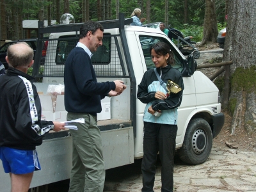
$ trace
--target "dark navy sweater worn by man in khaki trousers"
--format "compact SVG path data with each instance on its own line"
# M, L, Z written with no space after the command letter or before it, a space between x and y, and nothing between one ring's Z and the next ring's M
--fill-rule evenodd
M100 100L115 83L97 83L90 56L81 47L72 49L65 63L65 109L73 113L90 113L96 116L101 112Z

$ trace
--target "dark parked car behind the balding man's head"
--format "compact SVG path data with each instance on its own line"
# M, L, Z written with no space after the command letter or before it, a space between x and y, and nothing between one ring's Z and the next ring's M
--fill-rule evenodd
M16 42L26 42L33 49L33 51L34 51L33 60L35 59L36 45L37 45L37 39L36 38L33 38L33 39L23 39L23 40L15 40L15 41L6 42L5 44L3 44L0 47L0 61L3 63L5 69L9 68L8 63L5 60L7 49L8 49L8 47L10 45L12 45L12 44L14 44ZM42 51L43 56L42 56L42 60L40 61L40 65L44 65L46 49L47 49L47 47L45 48L45 45L44 45L44 48L43 48L43 51Z

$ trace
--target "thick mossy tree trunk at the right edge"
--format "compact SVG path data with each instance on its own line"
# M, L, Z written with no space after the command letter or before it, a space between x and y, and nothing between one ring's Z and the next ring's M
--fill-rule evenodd
M233 65L230 66L232 81L228 100L228 108L233 114L230 134L235 134L237 128L256 132L255 7L256 1L228 0L227 36L223 60L233 61Z

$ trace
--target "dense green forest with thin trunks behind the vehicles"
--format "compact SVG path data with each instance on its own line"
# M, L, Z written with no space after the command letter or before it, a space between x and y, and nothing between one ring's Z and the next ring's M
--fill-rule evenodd
M209 0L207 0L209 1ZM76 22L86 20L118 19L118 13L131 17L134 8L141 9L143 24L165 22L166 26L179 29L185 36L193 36L196 42L202 41L205 18L205 0L0 0L1 25L0 39L18 40L27 38L22 28L22 20L56 20L64 13L74 16ZM225 28L227 0L214 0L218 30ZM36 31L31 37L36 38ZM217 36L214 36L216 39Z

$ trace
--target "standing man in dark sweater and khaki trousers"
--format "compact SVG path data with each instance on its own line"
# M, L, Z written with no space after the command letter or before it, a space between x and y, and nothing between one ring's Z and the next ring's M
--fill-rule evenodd
M80 28L79 42L68 54L65 63L67 120L84 118L84 124L76 124L78 130L70 130L73 138L73 167L69 192L103 191L105 169L97 113L101 111L101 99L120 95L126 88L120 80L97 82L91 57L92 52L102 45L103 31L98 22L85 22Z

